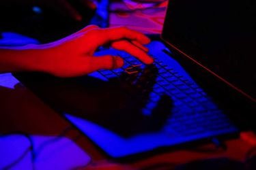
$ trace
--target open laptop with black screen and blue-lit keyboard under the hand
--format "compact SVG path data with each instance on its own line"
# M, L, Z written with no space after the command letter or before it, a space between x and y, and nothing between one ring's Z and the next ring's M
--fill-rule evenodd
M153 65L101 49L96 57L122 56L124 67L79 78L14 75L111 158L237 135L253 127L256 76L254 10L235 3L169 0L161 37L147 45ZM247 22L232 15L238 8Z

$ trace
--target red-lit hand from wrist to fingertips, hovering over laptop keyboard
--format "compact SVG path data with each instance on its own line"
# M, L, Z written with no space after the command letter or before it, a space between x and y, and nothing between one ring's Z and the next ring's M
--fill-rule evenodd
M148 37L125 27L100 29L91 25L64 39L39 46L38 67L40 71L58 77L73 77L98 69L122 67L124 61L119 56L94 56L94 52L104 45L124 50L143 63L151 64L153 59L147 55L148 50L143 46L148 43Z

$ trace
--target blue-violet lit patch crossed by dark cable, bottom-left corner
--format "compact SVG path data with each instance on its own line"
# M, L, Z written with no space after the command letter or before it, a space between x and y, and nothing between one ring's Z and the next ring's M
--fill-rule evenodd
M66 137L0 136L0 169L76 169L90 157Z

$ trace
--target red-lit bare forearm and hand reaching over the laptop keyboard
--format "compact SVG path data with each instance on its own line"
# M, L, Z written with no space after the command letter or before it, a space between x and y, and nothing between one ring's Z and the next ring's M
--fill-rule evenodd
M98 47L106 44L151 64L153 59L143 46L149 42L145 35L124 27L100 29L89 26L51 44L0 49L0 72L42 71L72 77L98 69L122 67L124 61L119 56L94 57Z

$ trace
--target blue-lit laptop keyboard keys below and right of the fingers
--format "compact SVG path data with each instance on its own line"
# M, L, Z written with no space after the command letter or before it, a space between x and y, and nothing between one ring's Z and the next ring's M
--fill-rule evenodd
M117 55L124 58L124 67L100 70L99 73L109 81L119 80L130 86L139 86L142 95L143 92L150 92L146 105L141 109L145 116L152 114L163 95L169 96L173 106L163 131L171 137L205 133L214 136L237 131L221 109L193 80L188 80L157 56L154 56L154 64L147 66L129 54Z

